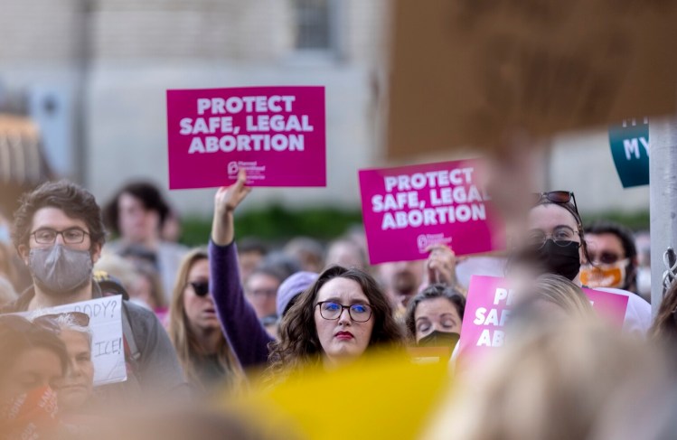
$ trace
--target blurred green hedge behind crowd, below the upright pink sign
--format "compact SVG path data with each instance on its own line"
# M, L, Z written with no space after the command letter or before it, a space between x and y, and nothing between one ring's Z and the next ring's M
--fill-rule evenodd
M307 208L288 210L280 205L236 214L235 236L257 237L269 242L282 242L297 236L331 240L341 236L355 224L362 223L358 210ZM211 218L183 219L181 242L188 246L202 245L209 239Z

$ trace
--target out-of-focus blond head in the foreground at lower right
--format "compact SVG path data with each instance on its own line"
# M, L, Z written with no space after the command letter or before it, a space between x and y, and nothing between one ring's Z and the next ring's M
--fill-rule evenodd
M664 383L662 365L657 351L606 325L578 319L544 324L468 370L423 438L592 438L606 407L633 398L627 390L645 397L646 389Z

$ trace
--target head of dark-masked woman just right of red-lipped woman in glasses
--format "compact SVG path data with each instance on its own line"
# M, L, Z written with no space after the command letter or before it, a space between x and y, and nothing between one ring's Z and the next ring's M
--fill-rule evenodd
M465 297L460 292L445 285L428 286L409 301L405 316L409 338L418 346L453 350L464 313Z

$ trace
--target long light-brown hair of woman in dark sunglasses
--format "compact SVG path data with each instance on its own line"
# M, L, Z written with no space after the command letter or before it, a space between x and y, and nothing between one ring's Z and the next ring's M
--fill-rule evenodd
M186 379L193 385L199 387L204 386L202 378L199 376L197 370L197 361L204 357L204 352L194 334L191 326L188 323L188 316L185 314L185 307L183 305L183 295L186 284L188 283L188 273L191 268L200 260L208 259L208 254L204 248L194 248L181 262L176 281L174 282L174 290L172 293L172 301L169 309L169 338L174 344L174 349L178 355L179 361L183 367ZM217 356L221 368L230 375L234 384L238 384L244 379L244 373L240 367L240 363L230 349L228 341L219 331L221 335L219 344L217 346Z

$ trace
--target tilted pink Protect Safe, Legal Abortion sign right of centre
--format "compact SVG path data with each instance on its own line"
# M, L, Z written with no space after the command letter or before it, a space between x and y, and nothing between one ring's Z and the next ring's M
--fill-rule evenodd
M360 171L371 264L428 257L443 243L456 255L505 248L503 227L478 187L478 160Z

